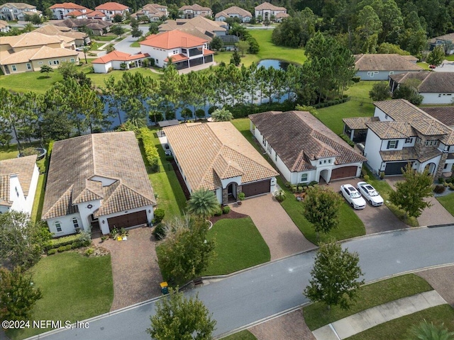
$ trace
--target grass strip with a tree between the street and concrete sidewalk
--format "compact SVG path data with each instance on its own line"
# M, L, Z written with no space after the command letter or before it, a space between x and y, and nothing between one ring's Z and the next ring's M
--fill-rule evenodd
M304 321L307 327L314 331L331 322L356 314L362 310L367 310L367 308L428 290L433 290L431 285L415 274L396 276L360 287L358 289L358 299L349 310L341 310L338 306L331 306L331 310L328 311L325 304L321 302L312 303L303 308ZM393 336L389 339L403 338Z

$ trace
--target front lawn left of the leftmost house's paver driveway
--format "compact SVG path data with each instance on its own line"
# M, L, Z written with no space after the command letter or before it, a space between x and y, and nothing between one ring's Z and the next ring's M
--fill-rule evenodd
M109 312L114 300L111 256L87 257L74 251L43 257L31 269L43 293L33 308L32 320L88 319ZM8 331L11 339L24 339L50 329Z

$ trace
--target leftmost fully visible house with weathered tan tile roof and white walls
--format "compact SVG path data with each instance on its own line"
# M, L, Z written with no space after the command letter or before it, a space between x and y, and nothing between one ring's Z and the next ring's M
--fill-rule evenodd
M155 195L134 132L106 132L55 142L42 219L55 237L78 229L146 225Z

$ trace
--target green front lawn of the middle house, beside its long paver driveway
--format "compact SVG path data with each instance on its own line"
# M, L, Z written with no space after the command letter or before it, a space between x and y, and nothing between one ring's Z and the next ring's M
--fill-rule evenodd
M233 273L270 261L270 249L250 217L219 220L207 238L216 240L216 258L204 276Z

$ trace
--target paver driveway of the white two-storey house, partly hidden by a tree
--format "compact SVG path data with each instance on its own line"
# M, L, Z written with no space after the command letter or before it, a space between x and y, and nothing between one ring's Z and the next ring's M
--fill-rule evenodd
M386 181L394 190L396 190L396 183L404 181L404 177L392 176L388 177ZM432 206L424 209L421 216L418 217L418 223L421 227L426 225L446 225L454 223L454 216L451 215L436 198L429 197L425 198L425 200L426 202L431 203Z

